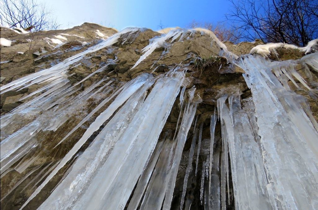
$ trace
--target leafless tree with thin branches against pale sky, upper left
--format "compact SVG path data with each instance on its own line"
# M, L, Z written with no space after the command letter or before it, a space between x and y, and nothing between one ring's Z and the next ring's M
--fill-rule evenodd
M37 32L59 27L44 3L36 0L0 0L1 25Z

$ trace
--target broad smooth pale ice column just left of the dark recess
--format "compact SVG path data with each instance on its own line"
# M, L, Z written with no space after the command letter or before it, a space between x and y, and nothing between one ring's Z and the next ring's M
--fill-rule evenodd
M60 209L58 206L69 206L72 203L75 204L70 206L73 209L102 209L105 208L105 205L110 209L124 208L149 155L156 145L161 129L179 93L183 78L184 73L178 72L176 76L164 77L156 82L131 123L114 144L106 162L91 177L89 185L78 200L75 203L72 201L65 203L67 198L59 198L61 203L55 204L55 208ZM154 103L158 106L152 106ZM135 125L140 126L136 127ZM156 128L153 125L156 125ZM75 167L77 167L77 163L74 164L73 168ZM130 173L130 176L127 177L127 173ZM100 182L101 179L104 181ZM126 182L123 183L123 179ZM119 185L121 185L120 189L118 189ZM59 195L58 188L54 192L55 196ZM56 197L52 195L51 199L55 200ZM50 206L52 202L45 202L41 208L47 209L46 205Z

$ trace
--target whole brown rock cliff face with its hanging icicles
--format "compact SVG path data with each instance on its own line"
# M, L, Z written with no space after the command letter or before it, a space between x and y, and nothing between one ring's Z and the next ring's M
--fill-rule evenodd
M2 209L318 208L318 53L163 32L1 28Z

